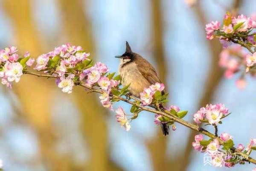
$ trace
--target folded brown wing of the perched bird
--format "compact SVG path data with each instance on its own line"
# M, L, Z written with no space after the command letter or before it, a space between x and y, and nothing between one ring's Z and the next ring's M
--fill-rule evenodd
M159 77L157 76L157 72L154 69L154 67L151 64L149 64L149 62L144 58L141 58L140 60L141 61L140 64L138 65L138 69L140 73L144 76L144 78L146 78L150 84L155 84L157 82L162 83Z

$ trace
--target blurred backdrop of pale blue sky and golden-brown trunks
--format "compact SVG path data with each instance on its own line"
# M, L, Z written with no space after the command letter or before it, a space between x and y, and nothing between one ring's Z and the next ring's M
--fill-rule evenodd
M204 27L228 10L250 16L253 0L0 0L0 49L17 46L36 58L70 42L116 72L113 58L128 41L154 67L170 93L168 105L189 110L223 102L232 112L220 132L247 145L256 138L255 81L236 88L239 77L225 79L218 67L222 47L208 41ZM253 11L254 10L254 11ZM237 78L236 78L237 77ZM129 111L129 105L116 103ZM68 95L51 79L22 76L13 89L0 86L0 159L5 171L250 171L204 166L192 148L196 132L176 125L168 137L141 113L126 132L98 95L75 87ZM208 126L209 127L209 126ZM212 130L212 128L207 128ZM256 157L255 154L252 155Z

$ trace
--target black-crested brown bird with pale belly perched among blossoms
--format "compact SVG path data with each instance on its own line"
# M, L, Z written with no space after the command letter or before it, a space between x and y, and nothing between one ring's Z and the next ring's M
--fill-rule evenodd
M118 74L121 76L121 84L122 86L130 84L128 90L131 95L140 98L140 93L143 92L144 88L157 82L162 83L154 67L141 55L132 52L127 41L125 53L115 56L115 58L120 58ZM163 94L164 92L162 92ZM163 135L167 136L169 125L161 123L161 128Z

